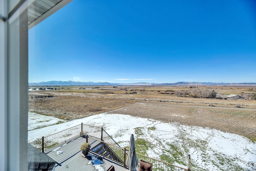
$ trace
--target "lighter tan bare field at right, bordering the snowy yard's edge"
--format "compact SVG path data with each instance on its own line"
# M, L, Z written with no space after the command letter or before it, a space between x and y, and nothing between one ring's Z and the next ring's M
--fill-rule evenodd
M218 129L223 132L236 133L256 140L256 110L234 109L226 107L199 107L170 105L159 103L135 103L108 113L118 113Z

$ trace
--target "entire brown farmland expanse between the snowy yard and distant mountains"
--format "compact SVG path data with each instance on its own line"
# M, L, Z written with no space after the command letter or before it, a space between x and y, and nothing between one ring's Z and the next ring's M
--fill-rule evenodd
M120 114L164 122L209 127L236 133L256 141L256 100L176 97L166 91L190 89L182 86L58 88L56 90L30 91L29 110L66 120L106 111L111 111L110 113L118 111ZM222 94L243 95L256 92L255 87L204 86L198 88L211 88ZM40 94L54 97L35 99L35 97L42 96ZM112 111L114 109L117 110Z

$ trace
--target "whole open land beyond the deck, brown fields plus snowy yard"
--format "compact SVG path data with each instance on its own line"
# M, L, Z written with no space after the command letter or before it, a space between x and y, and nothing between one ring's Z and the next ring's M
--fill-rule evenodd
M213 89L224 95L244 95L256 91L253 87L198 88ZM177 97L173 93L189 89L178 86L121 86L30 90L29 118L41 115L56 120L50 123L52 119L48 119L48 125L42 125L42 120L40 124L30 119L29 137L34 139L32 132L44 127L77 123L79 118L94 117L87 123L103 126L122 146L127 146L128 141L123 134L132 129L138 137L138 151L151 157L157 156L184 166L186 153L192 153L192 165L194 169L197 168L195 170L255 170L256 100ZM102 113L105 113L104 119ZM124 125L126 118L133 120L136 125L118 127L116 129L122 131L114 131L114 125ZM149 137L152 141L147 140ZM157 146L157 142L162 144L161 147ZM152 144L152 148L148 143ZM160 152L155 151L155 148L159 148Z

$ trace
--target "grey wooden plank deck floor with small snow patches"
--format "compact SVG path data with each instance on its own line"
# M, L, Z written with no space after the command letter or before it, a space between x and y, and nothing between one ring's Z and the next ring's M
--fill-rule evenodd
M80 147L83 143L86 143L86 138L77 137L74 140L71 140L68 143L62 143L53 149L46 151L46 155L54 159L57 164L55 166L56 171L98 171L98 169L93 166L92 163L88 164L90 161L82 156ZM94 142L89 141L91 148L94 147ZM54 149L60 147L58 151L53 151ZM57 152L61 152L57 154ZM92 154L92 153L91 153ZM106 171L111 165L114 165L116 171L128 171L127 168L122 167L121 165L114 163L114 161L103 159L104 163L100 165Z

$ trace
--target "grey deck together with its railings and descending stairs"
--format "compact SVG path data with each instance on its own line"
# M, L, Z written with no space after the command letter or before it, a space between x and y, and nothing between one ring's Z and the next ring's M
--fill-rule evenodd
M56 166L56 171L57 168L64 171L71 170L70 168L77 170L78 167L88 167L88 163L82 162L84 160L80 155L80 147L84 143L91 145L90 153L92 155L101 156L103 160L110 161L112 164L114 163L115 167L118 167L120 171L126 170L125 161L128 157L128 150L126 147L120 147L120 145L106 133L103 127L81 123L30 142L32 146L38 148L57 162L57 166L59 167ZM152 163L153 168L156 170L190 171L189 166L186 169L139 153L137 153L137 156L138 159ZM79 162L76 162L78 160ZM110 167L110 165L106 165L105 163L102 165L105 169Z

